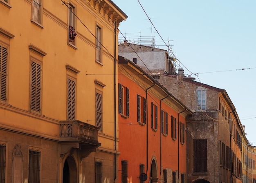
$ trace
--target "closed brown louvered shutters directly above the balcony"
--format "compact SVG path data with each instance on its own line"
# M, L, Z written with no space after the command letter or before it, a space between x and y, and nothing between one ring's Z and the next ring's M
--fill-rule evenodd
M67 85L67 120L75 120L76 81L68 78Z

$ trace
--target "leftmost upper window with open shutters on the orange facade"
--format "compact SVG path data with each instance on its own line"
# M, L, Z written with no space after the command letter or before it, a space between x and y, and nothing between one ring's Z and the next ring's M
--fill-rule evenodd
M118 112L126 117L129 117L130 104L129 104L129 88L118 84Z

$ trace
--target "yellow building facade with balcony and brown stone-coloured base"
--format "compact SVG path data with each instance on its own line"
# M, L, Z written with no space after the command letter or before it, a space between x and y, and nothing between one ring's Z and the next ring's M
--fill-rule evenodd
M0 0L0 182L118 182L111 0Z

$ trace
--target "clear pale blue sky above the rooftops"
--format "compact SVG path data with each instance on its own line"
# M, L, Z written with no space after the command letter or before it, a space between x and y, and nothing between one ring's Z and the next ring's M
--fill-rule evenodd
M140 33L158 41L159 33L172 40L184 74L197 74L191 75L196 81L227 91L248 141L256 146L256 1L112 1L128 16L119 26L124 36Z

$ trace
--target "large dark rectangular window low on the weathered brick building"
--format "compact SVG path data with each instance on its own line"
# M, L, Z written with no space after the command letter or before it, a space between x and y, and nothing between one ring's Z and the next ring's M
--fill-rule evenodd
M194 172L207 172L207 139L193 140Z

